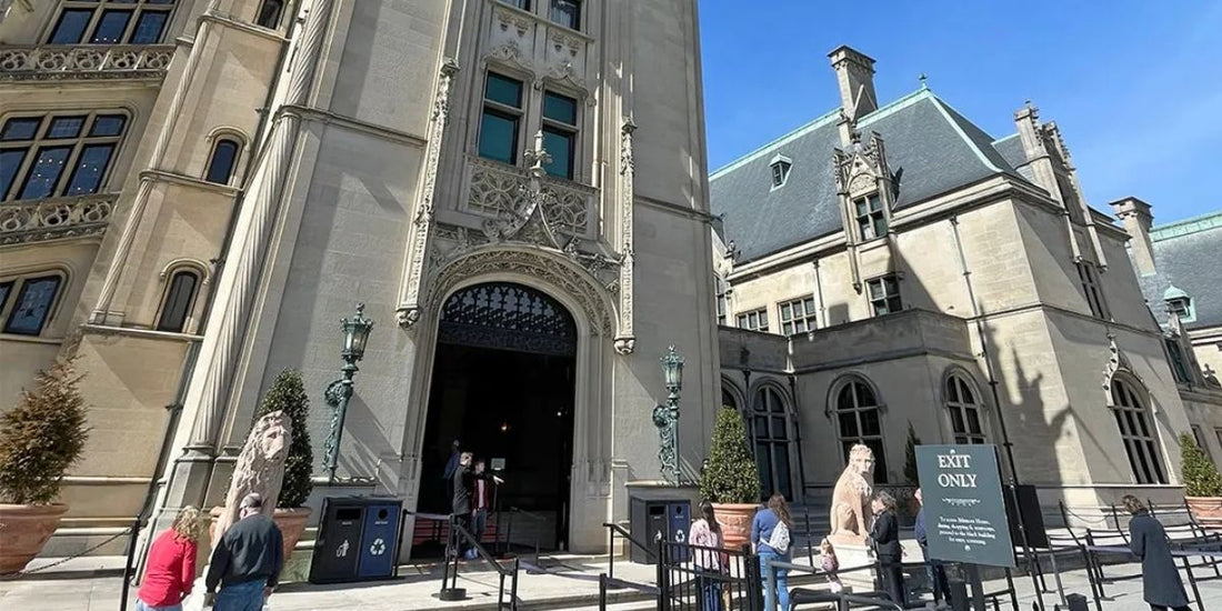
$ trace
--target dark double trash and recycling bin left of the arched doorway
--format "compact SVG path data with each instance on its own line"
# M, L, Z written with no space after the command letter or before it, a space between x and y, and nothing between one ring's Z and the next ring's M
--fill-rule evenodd
M393 499L357 496L323 501L309 582L359 582L393 574L402 506Z

